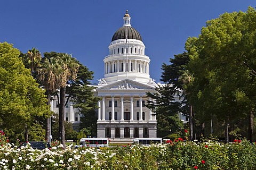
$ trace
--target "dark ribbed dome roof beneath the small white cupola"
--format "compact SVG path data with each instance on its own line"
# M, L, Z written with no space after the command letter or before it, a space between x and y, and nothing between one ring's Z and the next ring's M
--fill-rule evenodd
M142 41L140 33L130 26L124 26L119 28L112 37L112 41L117 39L126 39L126 30L127 30L127 39L137 39Z

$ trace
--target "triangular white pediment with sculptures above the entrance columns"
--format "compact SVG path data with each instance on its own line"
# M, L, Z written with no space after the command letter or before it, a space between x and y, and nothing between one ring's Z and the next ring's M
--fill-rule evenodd
M115 83L108 84L97 88L97 90L152 90L155 89L153 86L139 83L137 81L125 79L117 81Z

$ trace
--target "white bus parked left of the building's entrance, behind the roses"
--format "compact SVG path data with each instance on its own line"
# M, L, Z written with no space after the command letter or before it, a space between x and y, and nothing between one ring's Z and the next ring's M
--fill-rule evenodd
M80 145L84 147L108 147L109 138L82 138Z

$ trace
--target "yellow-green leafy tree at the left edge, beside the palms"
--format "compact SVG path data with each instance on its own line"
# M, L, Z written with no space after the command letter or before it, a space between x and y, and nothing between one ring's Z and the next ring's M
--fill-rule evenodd
M12 132L15 138L31 127L36 117L49 117L44 90L25 69L18 49L11 44L0 43L0 127Z

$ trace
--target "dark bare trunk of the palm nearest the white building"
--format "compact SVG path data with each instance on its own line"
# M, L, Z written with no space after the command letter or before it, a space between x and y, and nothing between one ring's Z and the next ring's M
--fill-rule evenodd
M60 104L59 104L59 137L60 143L62 143L63 147L65 146L65 95L66 95L66 87L60 88Z

